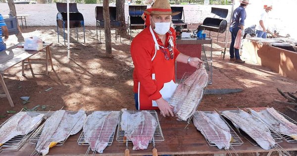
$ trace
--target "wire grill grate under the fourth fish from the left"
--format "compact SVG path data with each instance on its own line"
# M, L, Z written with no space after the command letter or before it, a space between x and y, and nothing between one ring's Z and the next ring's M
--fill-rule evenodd
M149 112L151 115L149 115L150 116L149 118L139 121L139 119L141 118L141 115L143 115L142 113L144 111ZM129 113L130 117L123 118L123 113ZM140 117L140 118L138 118L138 117ZM154 130L153 136L147 136L147 137L152 138L150 140L150 143L164 141L164 136L163 136L162 129L161 129L161 126L159 123L158 115L155 110L122 110L120 112L116 140L121 143L132 142L132 140L130 138L134 138L137 136L144 136L143 134L140 133L141 131L135 131L135 129L140 124L142 124L142 125L151 124L152 121L155 122L156 127ZM121 123L123 123L123 122L125 122L127 124L126 127L122 127L122 125L124 125L124 124L121 124ZM144 126L143 131L147 131L150 128L151 128L150 126L149 127ZM129 134L133 134L132 137L127 137L127 135L129 135Z

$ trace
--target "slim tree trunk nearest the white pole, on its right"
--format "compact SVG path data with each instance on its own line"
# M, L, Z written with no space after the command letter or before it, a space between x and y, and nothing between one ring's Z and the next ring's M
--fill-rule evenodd
M110 17L109 17L109 0L103 0L103 19L105 33L105 51L106 57L111 57L111 33L110 33Z

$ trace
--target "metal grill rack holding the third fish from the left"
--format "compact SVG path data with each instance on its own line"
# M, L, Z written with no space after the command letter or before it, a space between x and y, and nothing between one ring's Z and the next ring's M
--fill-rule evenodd
M96 112L101 112L101 114L95 114ZM112 114L114 116L112 116L112 118L110 119L106 119L107 116L112 112L114 113ZM97 128L94 127L95 128L94 131L89 132L89 133L92 133L92 135L97 136L96 138L93 138L93 139L86 138L85 129L83 129L82 133L80 134L77 140L79 145L89 146L86 152L86 156L89 155L89 153L92 151L90 146L90 141L96 142L100 138L100 143L107 143L107 146L110 146L112 144L116 126L118 125L119 114L120 114L120 111L95 111L88 116L84 124L84 127L92 126L94 124L99 124L99 126ZM94 120L95 122L90 122ZM94 150L92 155L94 156L95 154L96 154L96 150Z

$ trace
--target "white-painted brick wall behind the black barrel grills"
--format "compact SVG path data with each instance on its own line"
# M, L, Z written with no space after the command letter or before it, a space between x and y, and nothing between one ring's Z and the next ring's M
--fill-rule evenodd
M86 26L96 26L95 22L95 7L99 4L77 4L78 10L83 14ZM102 4L101 4L102 6ZM115 6L115 4L110 4ZM125 5L126 23L128 19L128 6ZM178 5L172 5L178 6ZM186 23L202 23L205 17L213 17L210 14L212 5L183 5L186 14ZM30 14L26 18L29 26L53 26L56 25L57 9L55 4L15 4L17 14ZM231 5L215 5L215 7L229 9L231 12ZM0 13L7 15L9 12L7 3L0 3ZM228 17L229 18L229 17Z

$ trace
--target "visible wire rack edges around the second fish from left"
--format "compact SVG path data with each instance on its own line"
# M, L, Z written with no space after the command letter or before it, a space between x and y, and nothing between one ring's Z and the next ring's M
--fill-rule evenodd
M55 111L54 113L52 113L52 115L51 116L53 116L55 113L56 113L57 111ZM65 114L76 114L78 111L68 111L68 110L66 110L65 111ZM63 115L63 116L65 116L65 114ZM77 120L77 122L82 118L84 116L84 114ZM63 120L63 118L64 117L62 117L62 120ZM76 123L77 123L76 122ZM75 124L76 125L76 124ZM72 127L72 129L75 127L75 125L73 125L73 127ZM30 139L29 139L29 143L30 144L34 144L34 145L36 145L37 144L37 142L38 142L38 140L39 140L39 138L40 138L40 136L41 136L41 134L42 134L42 131L43 131L43 129L44 129L44 127L45 127L45 123L43 123L33 134L32 134L32 137L30 137ZM72 130L71 129L71 130ZM67 137L63 140L63 141L60 141L60 142L58 142L55 146L61 146L61 145L63 145L64 144L64 142L68 139L68 137L70 136L70 132L71 132L71 130L69 131L69 133L68 133L68 135L67 135ZM31 156L39 156L40 155L40 153L39 152L37 152L36 150L31 154Z

